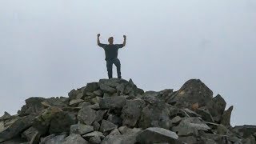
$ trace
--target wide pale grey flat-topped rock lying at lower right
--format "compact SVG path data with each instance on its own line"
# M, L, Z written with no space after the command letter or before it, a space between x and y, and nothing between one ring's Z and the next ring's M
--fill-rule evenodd
M179 136L186 136L198 133L198 130L210 130L210 127L199 118L183 118L182 122L178 126L174 126L172 130L178 132Z

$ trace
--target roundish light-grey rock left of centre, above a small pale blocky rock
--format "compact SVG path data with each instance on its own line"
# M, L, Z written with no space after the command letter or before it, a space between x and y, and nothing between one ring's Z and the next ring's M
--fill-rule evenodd
M78 120L86 125L91 125L96 118L96 111L89 106L83 106L78 112Z

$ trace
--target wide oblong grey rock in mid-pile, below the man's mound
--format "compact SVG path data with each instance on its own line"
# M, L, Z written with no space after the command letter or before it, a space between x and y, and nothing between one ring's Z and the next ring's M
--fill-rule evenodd
M121 109L126 105L126 98L123 96L102 98L99 102L101 109Z

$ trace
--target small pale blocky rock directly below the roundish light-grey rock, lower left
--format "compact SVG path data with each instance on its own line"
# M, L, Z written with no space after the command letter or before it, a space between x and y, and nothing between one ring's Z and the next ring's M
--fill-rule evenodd
M70 126L70 133L71 134L87 134L94 131L94 126L88 126L84 124L75 124Z

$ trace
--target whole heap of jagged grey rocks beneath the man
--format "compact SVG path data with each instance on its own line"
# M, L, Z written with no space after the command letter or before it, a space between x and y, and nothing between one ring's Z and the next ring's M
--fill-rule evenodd
M0 117L2 144L255 144L256 126L231 126L233 106L198 79L178 91L144 91L111 78L68 98L28 98Z

